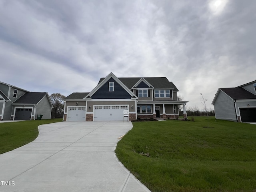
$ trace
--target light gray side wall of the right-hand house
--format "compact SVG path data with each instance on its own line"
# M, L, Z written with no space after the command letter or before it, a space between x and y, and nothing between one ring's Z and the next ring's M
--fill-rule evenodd
M217 119L236 121L234 101L222 91L214 102L214 111Z

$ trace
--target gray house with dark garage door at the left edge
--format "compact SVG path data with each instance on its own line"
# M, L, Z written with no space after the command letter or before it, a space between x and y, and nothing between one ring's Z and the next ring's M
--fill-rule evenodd
M0 120L50 119L52 102L48 93L27 90L0 82Z

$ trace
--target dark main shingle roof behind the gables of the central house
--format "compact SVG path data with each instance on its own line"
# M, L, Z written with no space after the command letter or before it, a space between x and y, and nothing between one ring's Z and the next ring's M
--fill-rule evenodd
M102 82L105 78L100 78L100 82ZM133 86L140 81L141 77L122 77L118 78L122 83L127 86L129 89L132 89ZM166 77L144 77L144 79L150 83L155 89L173 89L174 91L178 91L176 86L170 82Z

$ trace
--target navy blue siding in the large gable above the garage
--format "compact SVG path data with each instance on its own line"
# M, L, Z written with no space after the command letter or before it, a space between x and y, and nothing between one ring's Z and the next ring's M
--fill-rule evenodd
M114 82L114 91L109 91L109 82ZM92 99L130 99L131 95L113 78L110 78L93 95Z

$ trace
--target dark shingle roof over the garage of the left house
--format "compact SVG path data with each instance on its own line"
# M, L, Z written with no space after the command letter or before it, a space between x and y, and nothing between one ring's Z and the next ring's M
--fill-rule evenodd
M46 92L28 92L14 101L14 104L37 104L47 93Z

